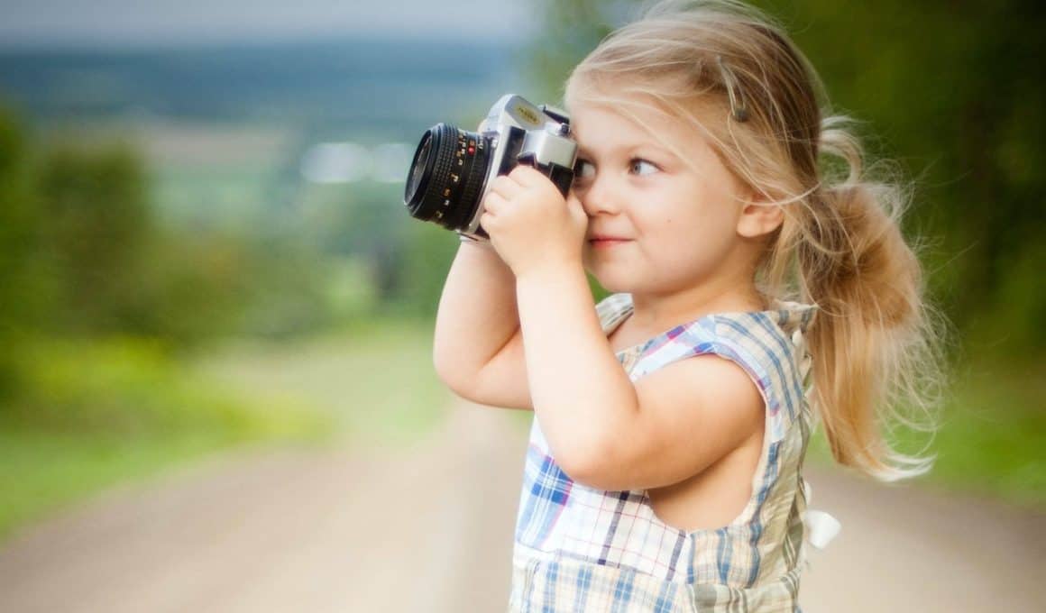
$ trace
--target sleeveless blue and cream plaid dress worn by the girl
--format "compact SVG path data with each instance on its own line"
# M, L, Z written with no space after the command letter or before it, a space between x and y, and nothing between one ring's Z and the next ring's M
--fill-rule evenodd
M741 515L717 529L682 530L655 516L645 491L606 492L570 479L536 418L513 554L514 612L798 610L801 476L813 416L802 331L815 308L714 314L617 355L633 381L713 354L743 367L766 401L763 454ZM632 313L628 294L597 305L604 331Z

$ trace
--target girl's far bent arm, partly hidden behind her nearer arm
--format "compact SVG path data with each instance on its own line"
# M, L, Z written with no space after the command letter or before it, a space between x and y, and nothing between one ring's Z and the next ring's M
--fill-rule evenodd
M516 279L498 254L462 243L436 315L433 361L458 395L484 405L530 408Z

